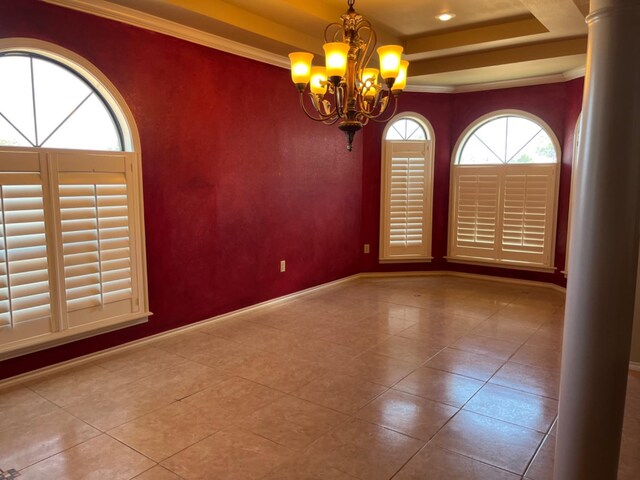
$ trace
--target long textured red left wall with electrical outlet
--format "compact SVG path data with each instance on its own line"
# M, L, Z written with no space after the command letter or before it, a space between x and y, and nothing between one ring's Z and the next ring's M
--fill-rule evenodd
M154 313L4 361L0 378L359 271L362 136L349 154L306 119L287 70L33 0L0 2L0 36L78 53L131 108Z

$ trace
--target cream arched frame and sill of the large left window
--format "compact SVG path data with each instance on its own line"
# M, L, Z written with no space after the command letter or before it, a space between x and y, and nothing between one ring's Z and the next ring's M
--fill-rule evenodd
M151 315L149 312L149 297L147 283L146 265L146 242L144 229L144 207L142 190L142 165L140 137L136 122L131 110L128 108L122 95L109 79L94 65L76 53L58 45L30 38L5 38L0 39L0 53L15 52L43 57L46 60L57 62L61 66L71 70L75 75L81 77L87 84L94 88L104 101L107 108L113 115L116 128L121 133L122 151L102 151L102 150L80 150L66 148L47 147L24 147L3 145L0 150L5 153L20 154L30 152L36 154L41 159L43 168L41 174L43 178L43 191L48 198L45 200L45 222L47 229L47 257L49 258L49 278L51 292L51 332L42 336L29 337L10 343L0 345L0 361L25 355L31 352L48 349L57 345L63 345L82 338L100 335L113 330L118 330L131 325L136 325L148 321ZM132 272L132 288L137 289L137 311L130 315L121 315L93 323L88 323L74 328L68 328L65 316L60 312L65 309L62 305L64 295L55 295L65 289L64 285L64 265L60 263L59 257L62 254L62 244L59 233L54 225L59 222L59 196L56 196L58 180L53 179L56 174L51 165L55 165L59 156L82 156L82 155L120 155L126 158L130 171L131 182L127 183L131 189L128 192L130 213L130 249ZM52 262L53 260L53 262ZM135 264L134 264L135 262ZM135 285L134 285L135 283ZM133 298L133 297L132 297ZM54 319L55 317L55 319Z

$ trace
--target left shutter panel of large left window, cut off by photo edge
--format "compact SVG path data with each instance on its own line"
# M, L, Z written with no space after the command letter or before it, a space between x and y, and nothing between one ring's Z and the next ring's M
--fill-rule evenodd
M0 152L0 345L53 331L42 178L38 153Z

